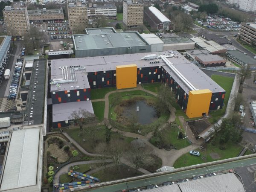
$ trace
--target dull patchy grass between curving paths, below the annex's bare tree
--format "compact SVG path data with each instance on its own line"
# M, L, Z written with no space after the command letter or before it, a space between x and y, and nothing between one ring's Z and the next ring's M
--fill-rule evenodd
M89 153L95 153L97 145L106 141L104 126L84 128L84 134L81 134L79 128L68 129L65 130L65 132L67 132L70 137L76 140L76 142L79 143ZM111 138L116 140L123 140L127 144L134 140L134 138L124 137L121 134L115 132L111 132Z

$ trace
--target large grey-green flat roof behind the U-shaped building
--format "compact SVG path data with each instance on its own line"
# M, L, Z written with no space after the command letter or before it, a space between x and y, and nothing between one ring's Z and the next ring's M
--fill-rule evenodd
M107 30L107 33L103 30ZM147 45L138 32L111 32L111 29L87 30L87 32L88 34L73 35L76 50Z

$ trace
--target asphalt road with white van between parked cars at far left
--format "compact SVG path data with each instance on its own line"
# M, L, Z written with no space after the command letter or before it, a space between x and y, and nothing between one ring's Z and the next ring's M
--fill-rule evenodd
M12 42L11 42L11 44L12 44ZM11 54L12 55L20 55L20 49L21 49L21 43L19 41L16 41L15 47L12 49ZM6 66L6 69L11 70L11 76L10 76L9 80L3 79L3 81L2 81L2 84L0 85L0 98L3 98L8 95L9 88L6 88L6 87L9 87L11 84L12 74L14 71L13 66L15 65L16 61L17 61L17 57L10 56L8 64Z

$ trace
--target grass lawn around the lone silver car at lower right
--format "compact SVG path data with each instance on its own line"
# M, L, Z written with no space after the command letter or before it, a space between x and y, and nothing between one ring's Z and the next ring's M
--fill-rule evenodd
M222 159L227 159L231 157L236 157L239 152L241 151L242 147L240 145L234 144L234 143L227 143L226 150L221 150L219 149L221 145L218 143L215 146L211 144L207 144L207 150L206 151L200 151L201 155L200 157L194 156L189 154L189 151L178 158L175 163L174 167L175 168L180 168L180 167L185 167L185 166L191 166L191 165L196 165L196 164L201 164L201 163L207 163L207 162L212 162L215 160L222 160ZM198 150L198 149L197 149ZM220 158L218 159L213 159L210 154L216 153ZM206 161L202 160L201 157L204 156L207 158Z

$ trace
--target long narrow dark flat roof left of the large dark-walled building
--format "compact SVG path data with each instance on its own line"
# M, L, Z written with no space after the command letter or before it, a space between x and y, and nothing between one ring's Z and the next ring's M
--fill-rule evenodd
M31 123L29 125L42 124L44 121L45 78L47 74L46 61L46 59L36 59L33 63L26 102L26 114L29 123ZM32 115L30 115L30 113L32 113Z

